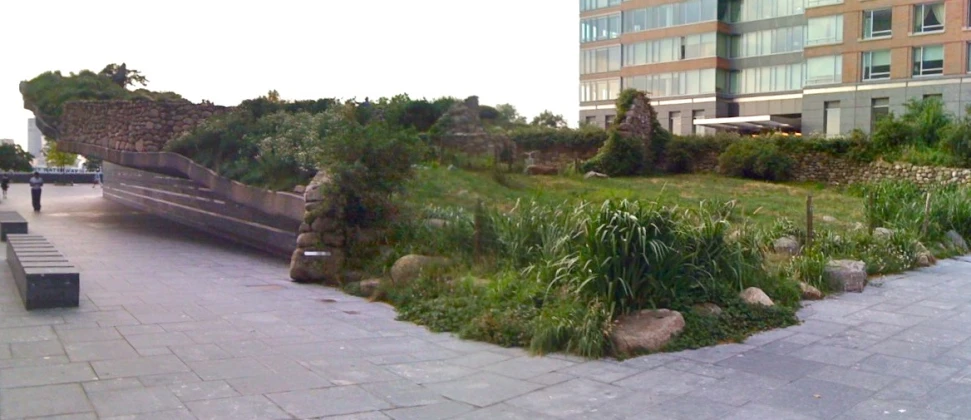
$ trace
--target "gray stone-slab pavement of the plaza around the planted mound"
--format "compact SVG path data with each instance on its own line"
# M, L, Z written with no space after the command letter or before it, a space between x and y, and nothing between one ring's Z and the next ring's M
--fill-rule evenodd
M80 265L83 296L28 313L0 263L4 420L971 418L969 262L813 303L745 344L536 358L293 284L285 261L89 186L48 186L40 214L24 186L10 195L0 210Z

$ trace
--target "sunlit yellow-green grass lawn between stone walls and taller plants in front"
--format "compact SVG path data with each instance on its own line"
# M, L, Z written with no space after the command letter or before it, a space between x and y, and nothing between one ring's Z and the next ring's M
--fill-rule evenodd
M739 214L759 224L787 217L797 224L806 220L806 197L813 195L818 227L849 229L862 223L863 200L836 188L818 184L773 184L718 175L670 175L651 178L589 179L579 176L525 176L508 174L507 187L489 172L420 169L408 186L415 204L471 209L477 200L487 206L511 208L517 199L545 203L607 199L658 200L666 205L696 207L702 200L736 200ZM835 221L826 222L829 216Z

